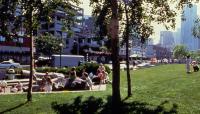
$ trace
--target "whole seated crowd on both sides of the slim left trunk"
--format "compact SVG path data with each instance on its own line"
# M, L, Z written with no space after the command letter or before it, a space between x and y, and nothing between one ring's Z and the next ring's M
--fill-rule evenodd
M5 82L5 83L3 83ZM35 75L35 70L33 71L33 91L37 92L52 92L59 90L92 90L94 85L102 85L106 83L111 83L108 77L108 73L104 65L101 63L97 71L89 72L88 69L83 68L81 73L77 71L75 67L72 67L65 77L52 77L50 73L46 72L42 77ZM6 81L2 80L0 82L0 93L5 92L7 88ZM28 86L23 85L20 81L16 84L9 86L10 92L17 93L22 91L27 91Z

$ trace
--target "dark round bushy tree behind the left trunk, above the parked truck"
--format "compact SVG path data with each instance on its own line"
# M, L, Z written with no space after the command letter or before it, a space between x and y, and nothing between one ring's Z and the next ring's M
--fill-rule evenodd
M51 34L40 35L35 38L36 52L50 57L52 54L58 54L62 50L59 46L60 43L63 44L63 41Z

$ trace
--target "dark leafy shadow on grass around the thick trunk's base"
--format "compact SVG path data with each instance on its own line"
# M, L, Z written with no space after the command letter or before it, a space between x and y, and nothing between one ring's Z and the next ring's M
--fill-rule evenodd
M166 105L168 108L166 108ZM111 97L108 97L107 102L104 102L103 99L93 96L84 101L82 97L79 96L76 97L72 103L52 103L52 108L58 114L111 114L111 106ZM168 101L164 101L158 106L139 101L123 101L120 108L116 110L118 114L176 114L178 113L177 108L178 106L176 104L172 104Z

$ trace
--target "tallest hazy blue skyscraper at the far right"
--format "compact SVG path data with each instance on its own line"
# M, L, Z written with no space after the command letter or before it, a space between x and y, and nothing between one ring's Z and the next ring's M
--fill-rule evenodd
M181 44L185 45L188 50L195 51L199 47L199 39L192 35L194 21L197 18L197 5L190 7L186 5L181 20Z

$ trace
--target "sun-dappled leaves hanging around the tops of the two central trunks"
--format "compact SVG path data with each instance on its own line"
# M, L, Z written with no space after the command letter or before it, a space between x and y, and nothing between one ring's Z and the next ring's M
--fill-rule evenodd
M166 28L175 28L176 12L170 7L172 2L171 0L132 0L126 4L126 10L124 1L119 1L117 9L119 10L118 19L121 23L120 32L126 31L123 27L127 25L126 20L123 18L126 11L128 11L128 20L130 22L128 31L131 31L130 33L133 33L134 37L139 37L141 43L144 43L153 33L153 26L151 25L154 22L163 24ZM101 36L108 35L107 25L109 25L112 15L111 4L110 0L91 0L93 15L98 17L96 25L100 29Z

